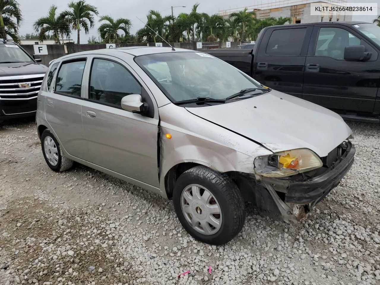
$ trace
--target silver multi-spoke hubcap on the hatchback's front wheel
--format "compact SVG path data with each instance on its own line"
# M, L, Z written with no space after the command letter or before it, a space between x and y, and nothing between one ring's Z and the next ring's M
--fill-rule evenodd
M181 194L186 220L202 234L215 234L222 225L222 212L215 197L201 185L188 185Z

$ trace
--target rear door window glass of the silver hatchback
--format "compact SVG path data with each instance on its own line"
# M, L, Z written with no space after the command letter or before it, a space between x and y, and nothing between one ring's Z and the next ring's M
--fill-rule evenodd
M58 71L55 92L81 97L82 77L86 60L63 62Z

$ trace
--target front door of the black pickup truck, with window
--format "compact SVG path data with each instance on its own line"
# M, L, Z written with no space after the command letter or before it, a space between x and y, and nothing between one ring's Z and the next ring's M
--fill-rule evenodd
M344 60L347 46L365 46L367 61ZM377 51L344 25L315 25L305 63L302 98L340 114L372 113L380 70Z

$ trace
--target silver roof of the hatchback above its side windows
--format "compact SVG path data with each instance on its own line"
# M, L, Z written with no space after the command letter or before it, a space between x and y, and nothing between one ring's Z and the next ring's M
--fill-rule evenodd
M67 54L62 57L59 57L58 59L55 59L54 62L60 61L62 59L66 59L69 57L77 56L77 55L89 55L89 54L112 55L115 57L119 57L121 52L125 54L130 54L133 56L139 56L139 55L160 54L160 53L167 53L167 52L196 52L196 51L193 51L192 49L180 49L180 48L175 48L175 51L173 51L171 47L155 47L155 46L115 47L112 49L95 49L92 51L75 52L73 54Z

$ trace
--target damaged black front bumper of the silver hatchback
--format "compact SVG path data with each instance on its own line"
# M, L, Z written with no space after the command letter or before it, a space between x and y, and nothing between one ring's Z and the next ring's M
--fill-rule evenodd
M240 179L239 184L250 192L258 207L267 211L277 208L285 222L298 223L333 188L339 185L340 180L350 170L356 150L350 142L347 144L348 148L344 155L332 163L331 168L325 170L323 174L309 178L303 177L303 179L299 179L298 176L286 179L260 177L259 180L256 180L257 176L252 175L247 179L251 180L251 185L252 179L255 179L255 186L249 187L248 180L244 179ZM244 192L247 195L247 191Z

